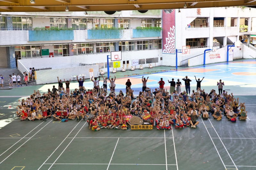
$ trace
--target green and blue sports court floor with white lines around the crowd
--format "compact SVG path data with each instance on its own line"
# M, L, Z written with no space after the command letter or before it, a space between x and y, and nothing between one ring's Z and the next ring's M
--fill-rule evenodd
M196 88L194 75L205 77L201 87L206 92L217 90L217 81L221 79L223 90L233 92L239 103L245 102L248 119L234 123L225 117L213 120L210 115L207 121L199 117L196 129L131 130L128 126L128 130L92 131L85 121L20 122L13 118L19 99L37 89L42 94L57 84L1 90L0 169L256 169L255 59L173 69L161 66L110 75L116 75L116 93L125 92L124 84L130 78L135 96L141 91L142 75L149 77L147 86L151 89L159 87L157 82L163 78L168 91L168 79L172 78L180 79L183 91L181 79L188 76L192 91ZM86 80L84 86L92 89L93 83ZM75 88L77 81L70 84L70 89Z

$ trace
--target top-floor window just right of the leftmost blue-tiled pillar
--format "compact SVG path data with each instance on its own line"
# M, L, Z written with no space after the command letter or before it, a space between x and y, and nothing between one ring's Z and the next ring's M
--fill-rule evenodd
M12 17L13 30L31 30L32 18L31 17Z

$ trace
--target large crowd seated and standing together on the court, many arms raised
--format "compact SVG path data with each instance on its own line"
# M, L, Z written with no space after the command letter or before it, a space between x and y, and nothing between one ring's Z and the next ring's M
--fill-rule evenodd
M131 85L126 88L126 95L122 90L115 92L116 78L109 78L111 89L108 93L107 78L104 80L104 88L100 87L98 80L97 83L93 82L94 88L86 90L83 86L84 78L77 78L79 88L69 94L70 80L64 79L65 89L58 78L58 89L53 86L52 90L48 89L43 94L37 90L30 97L19 101L17 116L20 121L46 121L51 117L64 121L84 120L88 122L89 129L94 131L103 128L126 130L129 118L133 116L140 117L143 122L152 124L159 130L172 129L171 124L179 129L186 126L196 128L199 116L207 120L211 114L217 120L226 116L232 122L237 117L239 120L247 118L244 103L239 104L239 99L225 90L221 94L220 91L217 94L214 89L205 93L204 89L197 87L191 95L186 91L177 92L177 89L169 93L164 88L151 90L146 87L148 79L142 78L143 90L134 98ZM179 81L177 84L176 88L180 90Z

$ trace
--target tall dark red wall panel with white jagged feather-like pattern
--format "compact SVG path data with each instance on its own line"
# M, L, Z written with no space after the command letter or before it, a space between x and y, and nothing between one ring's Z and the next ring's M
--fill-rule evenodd
M163 53L175 54L175 9L162 10Z

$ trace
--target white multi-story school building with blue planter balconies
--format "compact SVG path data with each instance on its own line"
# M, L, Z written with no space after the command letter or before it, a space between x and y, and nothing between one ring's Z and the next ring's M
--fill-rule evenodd
M60 63L69 62L70 67L77 63L98 64L106 71L107 55L111 51L122 51L121 65L126 69L135 59L144 67L149 63L174 66L175 49L183 46L190 46L190 53L179 53L179 62L213 46L222 48L239 40L247 45L256 44L254 8L87 13L2 12L0 66L14 68L20 60L24 67L30 64L38 69L61 68L66 65ZM59 60L54 66L52 57Z

